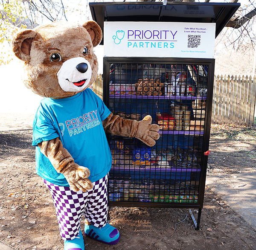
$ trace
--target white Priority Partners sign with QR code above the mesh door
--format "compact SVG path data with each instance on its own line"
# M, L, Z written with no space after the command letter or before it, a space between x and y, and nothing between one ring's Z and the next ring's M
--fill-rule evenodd
M214 58L215 23L105 22L104 55Z

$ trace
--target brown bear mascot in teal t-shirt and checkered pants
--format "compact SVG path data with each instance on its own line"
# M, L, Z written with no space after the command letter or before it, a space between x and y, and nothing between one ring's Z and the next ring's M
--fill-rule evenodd
M107 223L108 172L112 157L105 133L135 137L153 146L159 126L151 116L136 121L113 115L88 88L96 79L93 48L102 40L94 21L53 22L23 29L13 41L24 62L24 84L44 96L33 122L36 172L51 192L64 250L84 250L84 234L116 244L119 231Z

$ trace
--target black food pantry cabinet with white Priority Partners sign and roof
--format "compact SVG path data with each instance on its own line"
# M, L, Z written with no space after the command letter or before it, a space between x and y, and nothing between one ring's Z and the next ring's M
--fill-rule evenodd
M238 6L90 4L100 26L108 21L102 26L105 104L121 117L139 121L149 114L160 125L160 139L151 148L135 138L108 137L113 156L110 205L198 208L197 222L190 212L199 229L211 123L214 39Z

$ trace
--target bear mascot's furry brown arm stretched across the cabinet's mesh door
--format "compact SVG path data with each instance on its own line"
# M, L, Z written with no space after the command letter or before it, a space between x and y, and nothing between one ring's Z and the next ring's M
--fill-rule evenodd
M157 133L159 126L157 124L151 124L151 122L151 116L145 116L143 120L138 122L136 120L123 119L111 113L102 122L102 125L106 133L124 137L135 137L152 147L160 135Z

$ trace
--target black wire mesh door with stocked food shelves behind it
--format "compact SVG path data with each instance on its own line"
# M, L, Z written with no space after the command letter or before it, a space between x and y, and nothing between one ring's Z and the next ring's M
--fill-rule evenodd
M109 136L110 203L196 207L209 140L208 64L107 61L106 69L109 109L138 121L149 114L160 126L160 139L153 147L135 138Z

